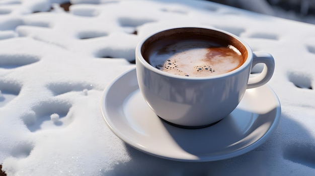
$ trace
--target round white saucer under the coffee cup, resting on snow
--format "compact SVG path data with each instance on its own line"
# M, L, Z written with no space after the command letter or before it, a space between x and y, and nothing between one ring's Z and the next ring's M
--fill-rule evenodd
M280 121L281 107L265 85L248 89L239 106L213 126L178 128L148 107L132 69L105 89L102 112L119 138L143 152L172 160L213 161L244 154L265 142Z

